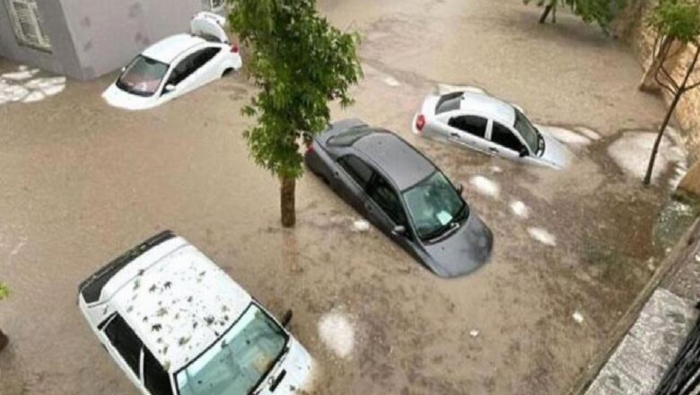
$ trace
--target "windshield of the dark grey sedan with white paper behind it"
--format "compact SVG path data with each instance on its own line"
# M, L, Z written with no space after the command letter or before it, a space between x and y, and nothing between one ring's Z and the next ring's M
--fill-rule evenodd
M408 214L421 240L432 240L468 215L467 203L459 197L440 171L403 192Z

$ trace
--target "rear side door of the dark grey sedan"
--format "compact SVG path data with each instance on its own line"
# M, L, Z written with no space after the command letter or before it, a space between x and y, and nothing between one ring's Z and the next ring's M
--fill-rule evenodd
M346 154L337 159L337 168L330 180L331 187L337 191L360 214L366 216L364 202L367 200L365 189L372 180L374 171L359 157Z

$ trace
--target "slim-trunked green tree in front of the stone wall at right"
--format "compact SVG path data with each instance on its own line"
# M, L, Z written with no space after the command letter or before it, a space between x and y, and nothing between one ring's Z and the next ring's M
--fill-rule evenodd
M695 72L697 59L700 57L700 45L697 38L700 36L700 8L696 1L692 0L661 0L654 7L649 18L649 25L656 33L654 52L658 60L658 67L654 74L656 83L671 95L669 110L661 122L659 134L656 136L652 148L652 156L644 176L644 184L652 182L652 172L659 145L663 138L670 118L678 106L680 98L688 91L700 85L700 81L691 82L691 76ZM677 44L680 45L677 45ZM669 61L676 57L676 50L671 48L693 48L693 57L686 69L677 80L673 75L673 69L669 68ZM653 65L652 65L653 66Z

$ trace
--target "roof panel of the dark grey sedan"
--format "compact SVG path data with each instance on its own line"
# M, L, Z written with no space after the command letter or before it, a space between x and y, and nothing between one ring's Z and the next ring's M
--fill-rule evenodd
M401 137L386 130L372 131L357 140L353 147L374 162L399 190L413 187L435 171L433 163Z

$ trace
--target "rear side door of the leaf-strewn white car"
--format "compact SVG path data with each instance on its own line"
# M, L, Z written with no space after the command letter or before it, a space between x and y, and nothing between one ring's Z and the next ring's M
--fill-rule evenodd
M102 329L104 337L107 339L105 348L109 355L114 358L119 367L127 374L128 379L138 387L143 393L144 386L141 384L141 356L143 354L144 343L138 338L136 333L127 322L118 314L108 320Z

